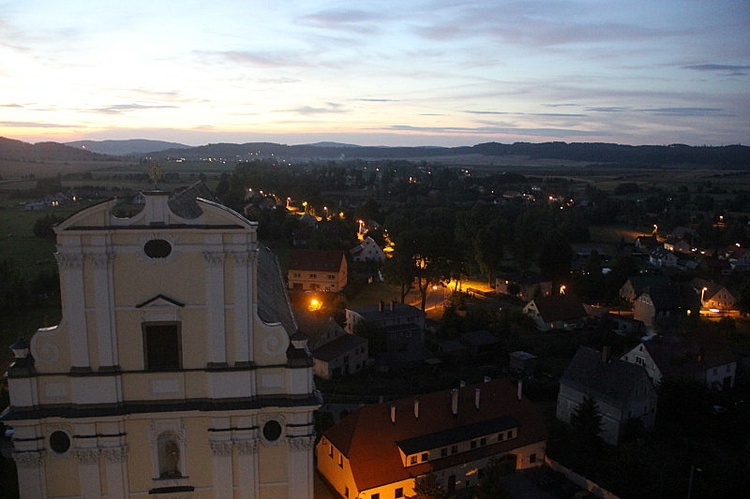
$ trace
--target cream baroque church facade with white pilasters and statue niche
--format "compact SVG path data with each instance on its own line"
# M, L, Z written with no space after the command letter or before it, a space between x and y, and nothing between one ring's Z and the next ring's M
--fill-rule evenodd
M55 228L63 318L7 373L21 496L312 497L320 397L275 257L218 203L145 200Z

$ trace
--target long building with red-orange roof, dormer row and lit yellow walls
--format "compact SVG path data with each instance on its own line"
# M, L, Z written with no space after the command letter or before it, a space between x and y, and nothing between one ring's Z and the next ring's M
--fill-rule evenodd
M427 474L454 493L476 485L492 460L541 466L546 442L541 411L520 385L494 380L362 406L324 433L317 468L341 497L408 497Z

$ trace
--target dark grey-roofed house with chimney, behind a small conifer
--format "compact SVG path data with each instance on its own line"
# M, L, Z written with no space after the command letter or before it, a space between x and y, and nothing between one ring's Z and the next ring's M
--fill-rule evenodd
M596 400L602 416L600 436L609 444L620 443L630 419L639 419L647 430L654 427L657 394L646 370L609 357L606 347L603 352L578 348L560 378L557 419L570 423L571 415L587 395Z

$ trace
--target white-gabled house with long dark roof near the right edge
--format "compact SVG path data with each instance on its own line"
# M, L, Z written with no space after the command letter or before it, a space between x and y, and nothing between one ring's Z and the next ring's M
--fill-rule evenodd
M692 338L656 336L625 353L622 360L643 366L655 384L664 376L695 379L710 390L734 387L737 358L723 338L698 334Z

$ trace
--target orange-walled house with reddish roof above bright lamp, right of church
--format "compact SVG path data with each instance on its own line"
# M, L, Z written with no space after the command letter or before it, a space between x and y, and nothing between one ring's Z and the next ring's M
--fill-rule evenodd
M289 256L289 289L338 293L347 282L347 263L343 251L295 249Z

